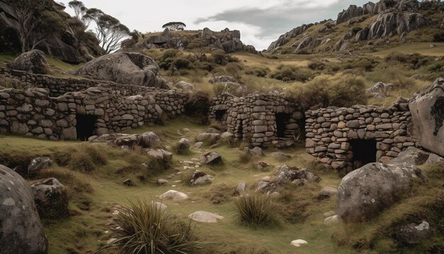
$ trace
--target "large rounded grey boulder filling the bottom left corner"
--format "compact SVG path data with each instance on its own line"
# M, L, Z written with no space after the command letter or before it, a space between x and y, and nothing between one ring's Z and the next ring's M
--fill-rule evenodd
M0 165L0 253L48 253L48 240L28 183Z

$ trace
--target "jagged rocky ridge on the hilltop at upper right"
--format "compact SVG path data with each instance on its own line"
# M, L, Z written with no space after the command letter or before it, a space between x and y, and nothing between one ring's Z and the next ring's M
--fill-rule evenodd
M423 28L430 35L443 24L440 1L382 0L376 4L369 2L363 6L350 5L338 13L336 21L304 24L292 29L267 49L270 52L284 50L286 53L318 53L325 51L344 51L352 45L367 43L378 45L388 38L398 36L399 42L407 39L408 34ZM430 40L429 40L430 41Z

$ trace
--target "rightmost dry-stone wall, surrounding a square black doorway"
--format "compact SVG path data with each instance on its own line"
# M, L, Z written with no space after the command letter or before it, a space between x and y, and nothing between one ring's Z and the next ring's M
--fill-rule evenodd
M416 145L408 134L410 125L408 101L398 101L389 108L353 106L307 111L306 150L326 167L348 172L362 164L355 160L351 143L374 140L374 161L388 162Z

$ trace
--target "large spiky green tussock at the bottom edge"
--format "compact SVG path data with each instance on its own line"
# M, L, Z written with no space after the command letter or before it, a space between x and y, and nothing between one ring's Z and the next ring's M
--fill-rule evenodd
M119 209L113 220L113 241L119 253L204 253L191 223L179 221L152 201L135 201Z

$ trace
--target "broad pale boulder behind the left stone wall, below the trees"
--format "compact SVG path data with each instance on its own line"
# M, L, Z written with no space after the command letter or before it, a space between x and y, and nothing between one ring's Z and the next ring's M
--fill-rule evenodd
M98 57L77 70L78 75L93 79L168 89L159 76L159 66L140 53L112 53Z

